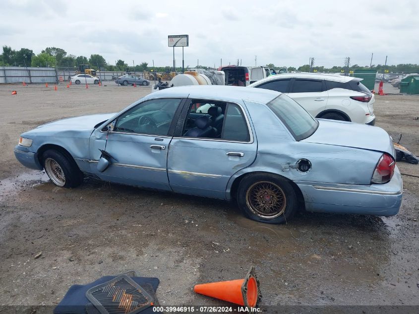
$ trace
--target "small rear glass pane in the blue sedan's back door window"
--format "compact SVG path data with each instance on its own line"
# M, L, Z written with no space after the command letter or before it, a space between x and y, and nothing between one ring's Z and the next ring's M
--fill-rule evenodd
M222 139L248 142L250 140L246 119L240 107L236 104L229 104L225 116Z

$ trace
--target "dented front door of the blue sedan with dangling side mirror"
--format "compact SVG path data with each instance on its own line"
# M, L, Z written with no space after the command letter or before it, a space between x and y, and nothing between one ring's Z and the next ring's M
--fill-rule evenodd
M105 181L170 190L167 153L181 100L146 100L97 129L90 140L92 172Z

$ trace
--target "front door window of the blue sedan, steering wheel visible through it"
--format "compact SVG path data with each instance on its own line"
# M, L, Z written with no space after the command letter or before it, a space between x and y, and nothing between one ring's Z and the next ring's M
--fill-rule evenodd
M151 99L140 103L118 117L115 132L168 135L181 99Z

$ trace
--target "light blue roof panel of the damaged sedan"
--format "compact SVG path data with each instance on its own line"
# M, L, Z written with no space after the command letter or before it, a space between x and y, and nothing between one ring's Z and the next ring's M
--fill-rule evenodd
M262 88L225 85L188 85L162 89L147 95L144 99L159 97L189 97L231 102L248 100L266 104L279 95L281 95L280 92Z

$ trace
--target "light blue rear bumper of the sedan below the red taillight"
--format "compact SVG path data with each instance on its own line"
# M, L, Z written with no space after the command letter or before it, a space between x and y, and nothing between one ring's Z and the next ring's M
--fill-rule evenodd
M399 212L403 182L399 169L383 185L338 185L298 183L305 209L313 212L394 216Z

